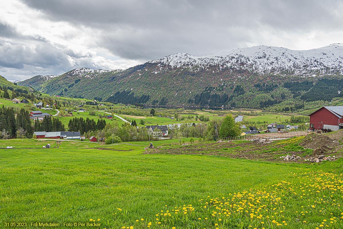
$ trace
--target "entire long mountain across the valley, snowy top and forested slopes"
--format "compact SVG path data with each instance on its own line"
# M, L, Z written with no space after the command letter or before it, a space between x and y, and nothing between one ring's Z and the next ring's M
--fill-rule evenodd
M341 97L342 74L342 44L303 51L255 46L202 57L177 53L126 70L78 68L18 84L126 104L262 108L284 103L292 110L287 101L301 107Z

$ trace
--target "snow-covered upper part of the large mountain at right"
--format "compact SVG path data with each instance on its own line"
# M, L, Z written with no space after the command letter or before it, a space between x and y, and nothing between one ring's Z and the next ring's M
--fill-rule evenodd
M177 67L219 65L234 69L246 69L260 74L291 73L294 75L343 74L343 44L331 44L310 50L291 50L273 46L254 46L224 51L201 57L177 53L150 63Z

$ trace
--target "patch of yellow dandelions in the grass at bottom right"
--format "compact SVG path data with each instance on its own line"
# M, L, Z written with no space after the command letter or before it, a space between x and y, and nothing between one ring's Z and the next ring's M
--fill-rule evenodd
M243 190L167 207L154 220L136 220L122 228L343 228L343 174L289 173L263 190ZM151 217L150 217L151 218Z

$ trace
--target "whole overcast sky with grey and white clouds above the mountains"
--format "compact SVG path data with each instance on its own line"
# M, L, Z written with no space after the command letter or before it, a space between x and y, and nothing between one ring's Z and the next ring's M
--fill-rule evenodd
M0 75L24 80L74 68L126 69L271 45L343 43L343 1L0 0Z

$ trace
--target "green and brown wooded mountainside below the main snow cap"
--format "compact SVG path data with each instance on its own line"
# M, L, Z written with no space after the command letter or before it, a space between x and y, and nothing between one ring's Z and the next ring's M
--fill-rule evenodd
M75 69L44 82L33 77L19 84L35 85L48 94L123 104L225 106L278 112L307 110L313 108L314 102L330 102L343 95L339 93L343 90L341 76L258 75L219 67L171 68L146 63L123 71L82 73L82 69Z

